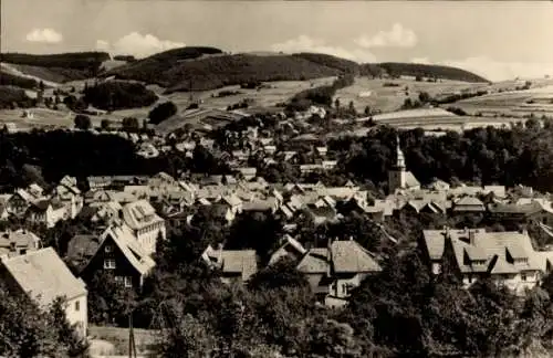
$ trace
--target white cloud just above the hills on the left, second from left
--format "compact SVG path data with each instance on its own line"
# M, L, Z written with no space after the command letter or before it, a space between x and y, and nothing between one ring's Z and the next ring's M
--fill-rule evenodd
M136 57L149 56L157 52L163 52L171 49L184 48L182 42L174 42L169 40L159 40L153 34L140 34L132 32L124 35L113 44L105 40L96 41L96 49L111 51L115 54L128 54Z

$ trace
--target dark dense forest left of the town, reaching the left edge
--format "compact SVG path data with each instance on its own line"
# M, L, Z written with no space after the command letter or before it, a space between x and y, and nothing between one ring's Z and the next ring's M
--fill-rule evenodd
M145 159L132 141L115 135L87 131L0 134L0 187L10 190L32 182L52 185L70 175L84 182L87 176L154 175L166 171L226 173L228 168L198 146L195 158L178 151Z

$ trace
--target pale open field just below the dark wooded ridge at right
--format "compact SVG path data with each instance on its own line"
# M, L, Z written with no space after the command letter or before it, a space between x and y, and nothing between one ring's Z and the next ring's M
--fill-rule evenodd
M385 87L385 83L395 83L397 87ZM351 101L357 112L363 112L366 106L373 110L392 112L397 110L406 98L418 99L420 92L427 92L430 96L438 94L455 93L462 90L486 88L484 83L467 83L457 81L441 82L416 82L415 80L371 80L368 77L356 77L352 86L338 90L335 98L340 98L341 105L347 106ZM408 87L408 96L405 88Z

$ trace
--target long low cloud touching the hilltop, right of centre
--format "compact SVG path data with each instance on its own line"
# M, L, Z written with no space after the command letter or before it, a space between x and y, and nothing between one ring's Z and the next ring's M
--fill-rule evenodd
M376 57L373 53L365 49L347 50L341 46L331 46L319 39L313 39L307 35L300 35L296 39L288 40L282 43L271 45L272 51L295 53L295 52L313 52L324 53L338 56L346 60L356 62L375 62Z

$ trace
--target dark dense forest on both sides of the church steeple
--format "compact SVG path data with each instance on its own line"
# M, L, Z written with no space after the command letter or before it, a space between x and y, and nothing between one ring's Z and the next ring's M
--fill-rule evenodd
M513 129L476 128L463 134L425 136L422 129L399 133L407 167L421 182L434 178L481 185L518 183L553 191L553 126L535 119ZM332 140L341 170L385 189L395 160L396 130L377 127L366 137Z

